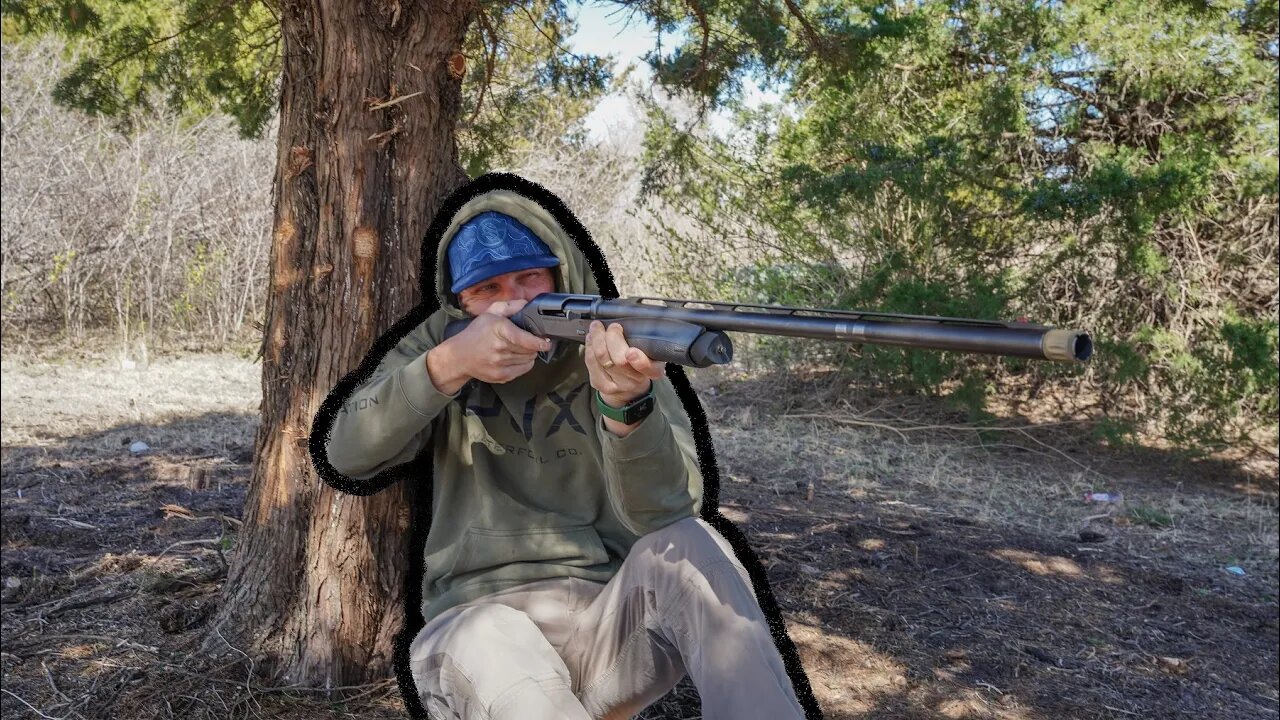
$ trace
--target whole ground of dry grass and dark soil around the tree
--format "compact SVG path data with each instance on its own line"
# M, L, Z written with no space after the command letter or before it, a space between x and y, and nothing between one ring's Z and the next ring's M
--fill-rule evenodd
M392 682L321 696L192 655L238 528L257 366L119 368L4 361L3 715L404 717ZM826 717L1280 715L1274 459L1116 452L1043 407L978 432L826 378L694 377L721 509ZM687 683L645 714L699 716Z

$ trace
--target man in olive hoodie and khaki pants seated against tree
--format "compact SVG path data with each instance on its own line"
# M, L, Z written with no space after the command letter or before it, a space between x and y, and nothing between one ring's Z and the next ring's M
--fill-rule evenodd
M708 719L803 717L745 570L698 518L692 433L663 365L620 325L553 347L508 319L543 292L599 292L556 214L480 193L436 259L440 310L326 445L356 479L431 446L426 625L410 652L429 714L630 717L687 671Z

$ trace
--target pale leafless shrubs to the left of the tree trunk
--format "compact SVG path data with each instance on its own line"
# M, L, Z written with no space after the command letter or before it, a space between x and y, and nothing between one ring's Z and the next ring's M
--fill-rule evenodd
M273 140L219 117L120 133L52 104L68 61L52 40L4 49L5 337L225 342L264 304Z

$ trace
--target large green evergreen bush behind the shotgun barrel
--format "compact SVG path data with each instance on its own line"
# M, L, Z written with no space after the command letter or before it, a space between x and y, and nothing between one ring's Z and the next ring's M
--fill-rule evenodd
M1266 5L1266 8L1262 8ZM673 281L750 299L1091 332L1085 368L797 345L980 416L1007 379L1100 398L1100 437L1211 451L1277 430L1275 3L837 3L750 141L654 108ZM1260 8L1262 8L1260 10ZM835 31L832 31L835 32ZM705 282L707 258L736 265Z

